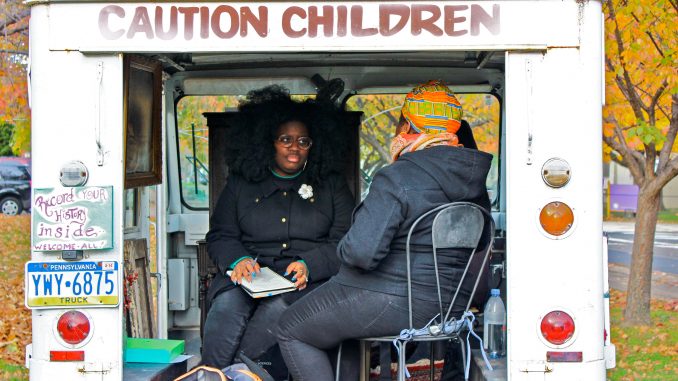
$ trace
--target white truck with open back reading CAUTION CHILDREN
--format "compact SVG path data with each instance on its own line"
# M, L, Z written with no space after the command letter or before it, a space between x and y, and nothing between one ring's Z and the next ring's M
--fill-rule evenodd
M356 115L346 174L359 198L387 164L398 102L430 79L459 94L494 155L489 282L508 350L474 379L605 380L614 367L600 1L28 3L31 379L164 379L199 359L219 139L248 91L333 92ZM194 356L125 363L128 335L182 338Z

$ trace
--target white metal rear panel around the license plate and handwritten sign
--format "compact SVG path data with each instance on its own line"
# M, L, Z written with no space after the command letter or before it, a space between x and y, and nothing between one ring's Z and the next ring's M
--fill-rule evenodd
M114 248L86 251L88 260L122 259L122 60L120 55L88 57L50 51L49 7L36 5L30 21L33 187L60 187L59 169L79 160L89 169L87 185L114 187ZM101 70L103 68L103 70ZM98 73L101 72L101 85ZM100 102L100 103L99 103ZM97 128L98 126L98 128ZM97 137L103 145L98 165ZM58 253L34 251L32 260L58 260ZM122 284L122 283L120 283ZM122 298L122 295L121 295ZM91 341L85 362L50 362L50 350L66 350L53 326L64 309L32 312L30 376L34 380L119 380L122 377L122 304L88 310Z

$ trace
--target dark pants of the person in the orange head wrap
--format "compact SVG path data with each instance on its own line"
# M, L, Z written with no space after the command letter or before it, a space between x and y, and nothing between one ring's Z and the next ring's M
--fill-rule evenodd
M435 302L417 302L414 326L422 327L438 311ZM409 326L407 298L329 281L300 299L279 321L278 343L295 381L332 381L328 350L345 340L397 335ZM356 350L342 351L342 381L359 372ZM351 374L346 370L353 369Z

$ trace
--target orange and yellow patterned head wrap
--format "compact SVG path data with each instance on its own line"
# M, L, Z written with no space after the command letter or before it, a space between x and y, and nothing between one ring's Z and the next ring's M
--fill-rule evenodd
M461 125L461 103L441 81L429 81L405 97L403 117L417 133L456 133Z

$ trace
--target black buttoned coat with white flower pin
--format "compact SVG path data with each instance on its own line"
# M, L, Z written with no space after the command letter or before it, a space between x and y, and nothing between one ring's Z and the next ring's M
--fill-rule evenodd
M291 262L303 259L309 285L336 274L337 243L350 226L353 196L340 175L313 186L308 199L298 193L304 183L304 173L293 180L270 175L258 183L239 175L228 177L207 233L208 254L219 269L210 284L208 302L235 287L226 272L244 256L257 258L262 267L280 274Z

